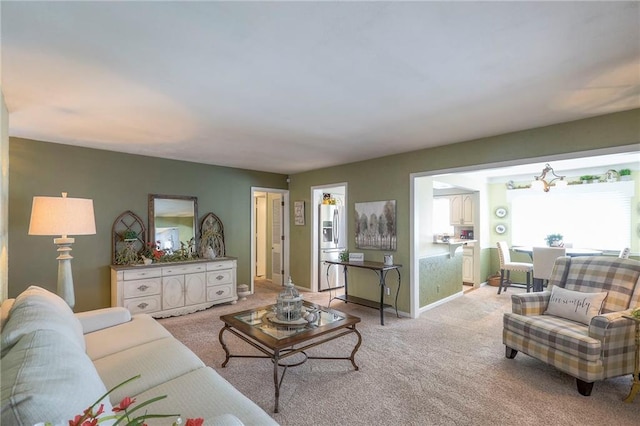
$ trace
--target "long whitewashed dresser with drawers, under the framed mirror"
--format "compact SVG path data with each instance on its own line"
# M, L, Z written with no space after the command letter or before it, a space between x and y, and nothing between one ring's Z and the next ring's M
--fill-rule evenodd
M111 266L111 306L156 318L184 315L219 303L236 303L237 260Z

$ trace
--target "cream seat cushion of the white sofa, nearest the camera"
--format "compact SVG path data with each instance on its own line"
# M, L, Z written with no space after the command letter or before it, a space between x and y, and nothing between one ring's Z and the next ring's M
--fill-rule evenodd
M137 399L147 401L161 395L167 397L149 405L150 412L176 413L176 407L180 407L177 414L182 418L202 417L206 425L220 424L219 416L224 413L233 413L245 425L278 424L211 367L199 368L151 388L138 395ZM171 425L172 421L170 418L158 420L154 425Z

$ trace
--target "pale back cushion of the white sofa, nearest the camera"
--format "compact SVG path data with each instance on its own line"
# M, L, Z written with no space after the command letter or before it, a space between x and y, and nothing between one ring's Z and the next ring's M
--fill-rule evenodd
M32 331L2 357L2 424L66 422L106 393L89 357L65 335ZM106 413L111 413L108 398Z

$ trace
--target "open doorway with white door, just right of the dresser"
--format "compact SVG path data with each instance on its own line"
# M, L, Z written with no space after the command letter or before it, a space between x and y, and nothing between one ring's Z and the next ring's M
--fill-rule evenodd
M289 274L289 192L251 188L251 285L283 285Z

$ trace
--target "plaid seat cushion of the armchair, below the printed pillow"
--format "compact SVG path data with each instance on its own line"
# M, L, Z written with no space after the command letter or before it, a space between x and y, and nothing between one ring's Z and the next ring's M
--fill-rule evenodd
M589 337L586 325L551 315L524 316L511 312L504 314L503 321L505 332L513 332L524 341L542 344L550 356L558 352L586 361L600 359L602 343Z

